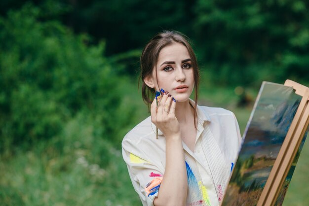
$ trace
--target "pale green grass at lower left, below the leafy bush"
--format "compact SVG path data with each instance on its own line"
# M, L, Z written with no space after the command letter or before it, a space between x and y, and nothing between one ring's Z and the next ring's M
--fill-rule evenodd
M66 128L67 139L55 137L31 151L1 158L1 206L139 204L120 148L96 139L90 125L76 126Z

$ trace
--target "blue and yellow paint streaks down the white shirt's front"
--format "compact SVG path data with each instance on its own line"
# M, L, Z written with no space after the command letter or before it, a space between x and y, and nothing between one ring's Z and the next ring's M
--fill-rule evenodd
M197 182L192 169L186 162L188 187L192 196L192 203L188 206L210 206L207 190L201 181Z

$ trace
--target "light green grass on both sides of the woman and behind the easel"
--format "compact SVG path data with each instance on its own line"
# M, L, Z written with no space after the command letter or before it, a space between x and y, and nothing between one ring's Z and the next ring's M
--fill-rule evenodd
M235 88L202 87L199 104L230 109L243 133L252 104L237 107ZM134 122L129 130L149 115L136 87L126 85L124 103L136 104ZM134 91L134 92L133 92ZM248 93L253 102L258 91ZM142 108L142 109L139 109ZM120 132L119 134L125 134ZM48 141L37 142L29 151L0 156L1 206L140 206L121 156L121 146L100 137L95 125L77 115L63 133ZM120 137L117 137L120 138ZM22 148L22 147L20 147ZM305 142L284 205L305 206L309 197L309 143Z

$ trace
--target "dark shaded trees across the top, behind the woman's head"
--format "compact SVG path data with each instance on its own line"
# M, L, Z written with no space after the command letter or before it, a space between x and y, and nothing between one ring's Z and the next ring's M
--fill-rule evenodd
M308 82L309 1L306 0L32 0L43 19L62 21L106 39L108 56L122 53L124 70L136 74L138 54L163 29L187 34L200 66L223 86L259 87L261 81ZM1 1L1 15L23 5ZM131 55L130 55L131 54Z

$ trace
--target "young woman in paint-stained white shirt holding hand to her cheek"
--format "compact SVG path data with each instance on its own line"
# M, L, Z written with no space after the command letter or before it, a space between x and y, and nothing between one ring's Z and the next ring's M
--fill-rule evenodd
M144 206L220 205L241 144L235 116L197 105L196 57L183 34L154 36L140 64L151 117L122 141L135 191Z

